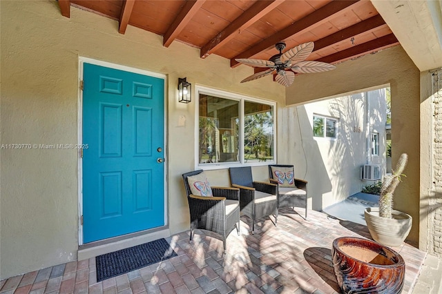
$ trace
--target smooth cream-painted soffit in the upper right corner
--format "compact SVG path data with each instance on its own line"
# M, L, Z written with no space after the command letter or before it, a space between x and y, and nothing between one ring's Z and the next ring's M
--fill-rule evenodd
M442 68L442 0L371 0L421 71Z

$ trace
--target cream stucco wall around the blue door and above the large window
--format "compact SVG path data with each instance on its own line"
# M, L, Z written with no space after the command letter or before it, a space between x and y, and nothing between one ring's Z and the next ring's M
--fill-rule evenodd
M171 233L187 230L181 174L194 169L195 103L177 102L177 79L193 85L282 102L285 89L269 77L240 84L253 70L229 60L200 59L196 48L57 1L0 1L1 143L75 144L78 140L78 63L89 57L166 75L167 188ZM180 116L186 124L178 126ZM77 150L1 149L0 280L77 259ZM266 167L267 168L267 167ZM265 168L253 170L260 177ZM227 171L220 174L229 184ZM217 177L218 179L218 177Z

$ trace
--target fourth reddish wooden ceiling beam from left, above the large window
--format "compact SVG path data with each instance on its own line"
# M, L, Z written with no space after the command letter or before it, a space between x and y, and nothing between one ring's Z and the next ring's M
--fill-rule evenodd
M213 39L201 48L201 58L206 58L218 48L236 37L240 31L249 28L253 23L271 12L285 0L271 0L271 1L256 1L249 9L242 13L237 19L232 21L229 26L224 28Z

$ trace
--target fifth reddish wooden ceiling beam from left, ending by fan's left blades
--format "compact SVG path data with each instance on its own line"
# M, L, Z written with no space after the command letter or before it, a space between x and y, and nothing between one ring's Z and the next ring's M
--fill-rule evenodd
M315 10L311 14L295 21L293 24L276 32L271 35L267 39L261 41L253 45L250 49L241 52L236 57L230 60L230 66L236 67L240 63L236 61L237 58L251 58L257 55L259 52L269 50L269 48L275 46L281 40L287 39L296 34L300 34L303 31L307 30L311 26L318 26L322 23L329 21L332 17L336 16L337 13L343 13L343 10L347 8L351 8L355 3L358 3L360 0L344 0L344 1L332 1L325 6Z

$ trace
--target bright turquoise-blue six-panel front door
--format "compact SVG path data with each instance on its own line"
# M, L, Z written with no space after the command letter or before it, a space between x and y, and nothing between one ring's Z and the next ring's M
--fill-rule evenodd
M164 79L84 63L84 243L164 225Z

